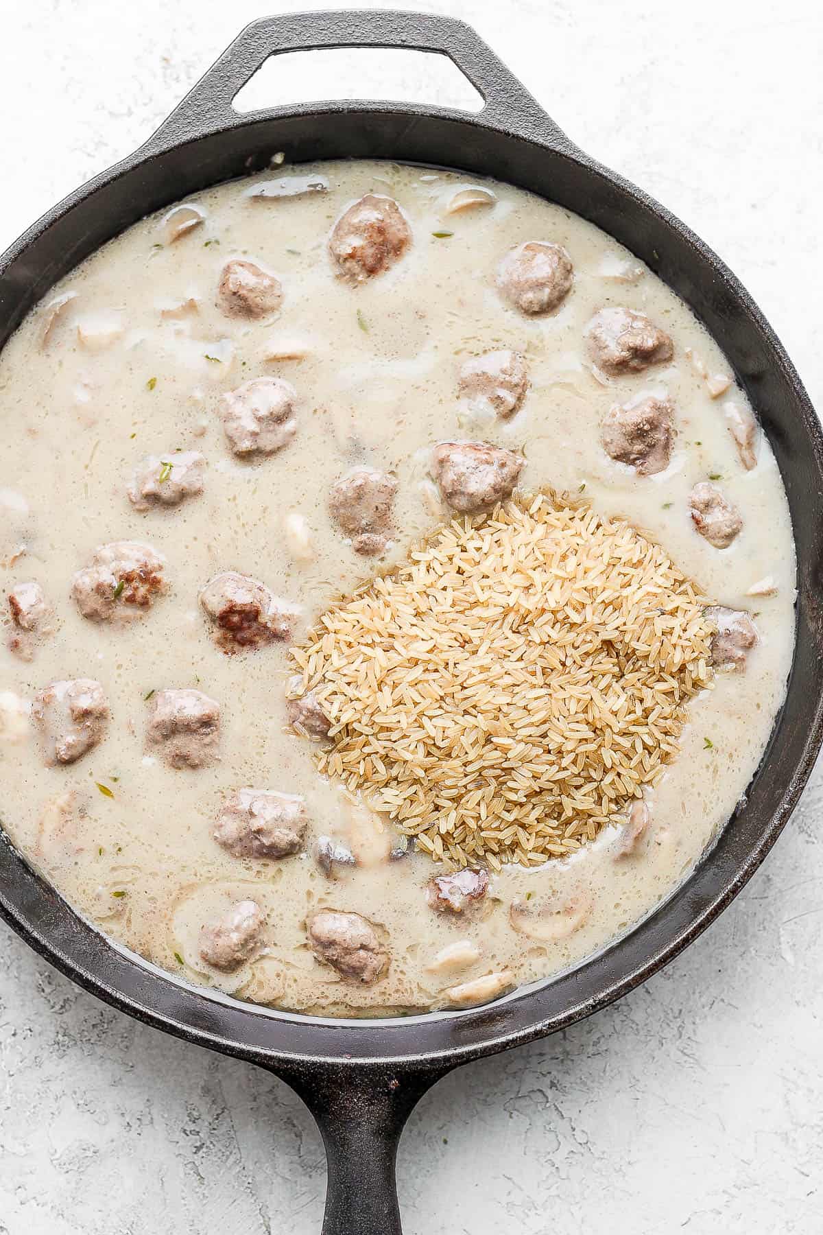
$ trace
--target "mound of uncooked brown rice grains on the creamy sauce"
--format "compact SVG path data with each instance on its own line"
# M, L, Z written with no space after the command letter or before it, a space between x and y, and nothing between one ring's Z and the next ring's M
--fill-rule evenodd
M321 772L433 858L536 866L658 783L711 683L707 599L621 519L554 493L454 519L292 648Z

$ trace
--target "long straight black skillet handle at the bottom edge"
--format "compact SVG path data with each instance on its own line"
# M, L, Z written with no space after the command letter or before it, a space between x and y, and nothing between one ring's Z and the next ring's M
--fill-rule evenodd
M420 1099L450 1068L395 1072L312 1061L300 1071L270 1071L302 1098L323 1137L322 1235L402 1235L395 1179L400 1136Z

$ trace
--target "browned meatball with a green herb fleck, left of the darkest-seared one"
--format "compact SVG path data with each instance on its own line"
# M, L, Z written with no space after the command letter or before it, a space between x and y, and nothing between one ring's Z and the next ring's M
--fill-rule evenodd
M91 564L74 576L74 603L90 621L133 616L165 592L164 567L165 558L141 541L100 545Z

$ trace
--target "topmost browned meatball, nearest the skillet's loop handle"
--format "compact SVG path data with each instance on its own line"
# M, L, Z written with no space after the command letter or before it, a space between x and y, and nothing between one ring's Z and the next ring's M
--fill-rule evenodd
M364 283L392 267L410 243L411 230L397 203L366 193L334 224L328 251L343 278Z

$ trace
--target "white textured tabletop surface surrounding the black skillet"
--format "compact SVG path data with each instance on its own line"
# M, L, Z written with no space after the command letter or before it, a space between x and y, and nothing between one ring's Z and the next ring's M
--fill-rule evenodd
M819 5L429 4L723 254L823 406ZM0 242L144 140L274 7L0 0ZM665 973L423 1099L400 1153L408 1235L823 1229L822 806L818 768L766 867ZM0 1235L320 1230L322 1147L285 1086L0 941Z

